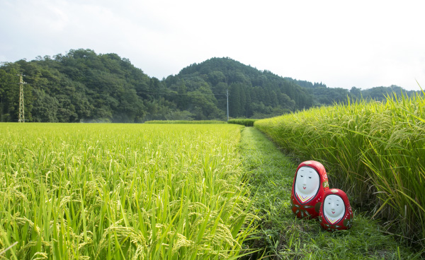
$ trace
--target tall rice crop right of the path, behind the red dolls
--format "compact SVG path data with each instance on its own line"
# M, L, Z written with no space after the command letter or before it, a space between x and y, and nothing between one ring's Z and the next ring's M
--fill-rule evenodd
M300 160L322 162L332 187L358 206L375 205L392 228L425 245L423 95L313 108L254 126Z

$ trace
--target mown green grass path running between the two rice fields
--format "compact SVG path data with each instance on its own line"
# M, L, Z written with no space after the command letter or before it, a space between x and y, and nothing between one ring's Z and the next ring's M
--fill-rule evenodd
M322 230L319 220L295 218L290 192L297 162L254 127L243 129L240 149L261 218L259 233L247 246L262 251L246 259L420 259L358 208L353 228L333 233ZM329 184L337 188L331 179Z

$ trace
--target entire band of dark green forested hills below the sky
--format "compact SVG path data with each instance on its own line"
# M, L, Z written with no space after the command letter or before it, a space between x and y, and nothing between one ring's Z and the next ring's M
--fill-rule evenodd
M67 54L0 66L0 122L18 121L19 76L26 122L145 122L273 117L348 98L382 100L397 86L360 90L283 78L229 58L191 64L159 80L117 54ZM404 91L411 95L412 91Z

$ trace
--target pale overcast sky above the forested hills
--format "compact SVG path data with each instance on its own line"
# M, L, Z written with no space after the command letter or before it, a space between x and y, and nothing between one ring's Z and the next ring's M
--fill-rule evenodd
M0 0L0 61L93 49L159 79L212 57L331 88L425 88L425 1Z

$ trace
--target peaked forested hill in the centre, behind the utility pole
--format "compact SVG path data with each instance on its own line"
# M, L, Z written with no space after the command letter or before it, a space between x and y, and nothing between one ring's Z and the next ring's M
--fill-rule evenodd
M313 97L294 82L270 71L259 71L229 58L212 58L192 64L164 81L169 90L185 95L196 91L202 102L214 103L217 112L229 116L263 118L312 107ZM204 96L202 96L203 94ZM180 110L193 111L200 102L176 102ZM203 110L209 116L212 110Z

